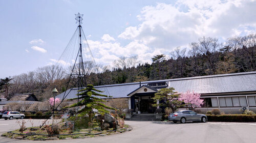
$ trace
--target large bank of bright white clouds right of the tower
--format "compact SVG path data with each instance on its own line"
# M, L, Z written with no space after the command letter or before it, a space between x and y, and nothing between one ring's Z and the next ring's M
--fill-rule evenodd
M256 32L256 1L178 0L175 4L145 6L137 16L139 24L127 26L115 39L104 34L88 40L97 63L111 65L120 56L138 55L138 61L152 63L157 54L176 47L188 47L199 37L225 39Z

